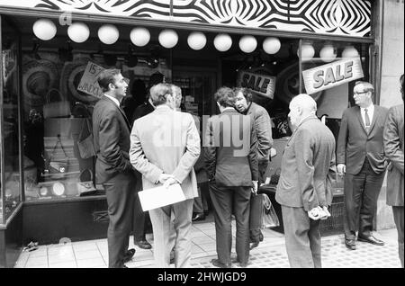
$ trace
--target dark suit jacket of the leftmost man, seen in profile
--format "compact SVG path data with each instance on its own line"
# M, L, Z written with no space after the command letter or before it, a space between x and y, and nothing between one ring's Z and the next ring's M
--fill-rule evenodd
M130 165L130 121L111 99L103 96L93 112L95 176L97 183L105 183L120 173L133 174Z

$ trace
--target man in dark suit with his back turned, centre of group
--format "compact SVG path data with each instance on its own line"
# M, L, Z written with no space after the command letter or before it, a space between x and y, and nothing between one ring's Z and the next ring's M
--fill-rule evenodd
M250 116L238 113L236 96L228 87L215 94L220 114L207 122L205 167L210 180L218 259L211 263L231 266L231 215L235 215L237 261L247 266L249 258L249 210L252 187L257 192L257 137ZM241 140L240 140L241 139Z

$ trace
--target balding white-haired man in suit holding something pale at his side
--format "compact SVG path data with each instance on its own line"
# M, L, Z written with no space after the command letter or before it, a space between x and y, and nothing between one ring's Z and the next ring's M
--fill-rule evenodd
M281 204L291 267L321 267L320 219L328 217L336 175L335 138L316 116L317 103L299 94L288 114L293 135L284 148L275 200Z

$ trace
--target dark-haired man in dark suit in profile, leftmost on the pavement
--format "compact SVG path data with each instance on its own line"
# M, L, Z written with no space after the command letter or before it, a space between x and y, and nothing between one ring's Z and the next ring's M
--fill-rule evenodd
M126 268L135 254L128 250L134 201L134 168L130 164L130 121L120 108L128 84L118 69L105 69L97 78L103 97L95 104L93 135L96 179L103 183L110 222L107 230L108 267Z

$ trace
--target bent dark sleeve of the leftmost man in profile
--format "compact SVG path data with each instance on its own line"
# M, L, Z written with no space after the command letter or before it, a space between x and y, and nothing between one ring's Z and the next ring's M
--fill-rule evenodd
M100 153L108 165L111 165L118 172L132 170L128 153L120 147L120 121L116 112L103 114L99 127Z

